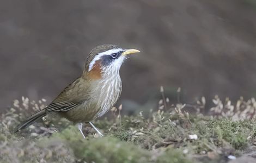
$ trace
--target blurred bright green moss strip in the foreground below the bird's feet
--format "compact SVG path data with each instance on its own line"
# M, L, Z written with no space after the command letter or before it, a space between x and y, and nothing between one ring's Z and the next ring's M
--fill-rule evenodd
M84 140L73 127L54 134L51 139L57 138L68 143L75 156L86 162L190 162L175 149L168 149L167 153L161 154L154 160L151 156L157 155L156 152L147 151L115 137Z

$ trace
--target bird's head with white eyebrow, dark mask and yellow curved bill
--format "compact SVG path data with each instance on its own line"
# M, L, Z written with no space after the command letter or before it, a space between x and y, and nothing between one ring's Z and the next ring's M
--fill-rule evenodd
M97 46L89 53L84 71L93 79L119 73L126 56L138 52L136 49L123 49L117 45Z

